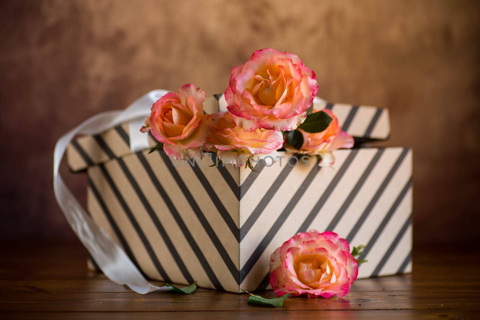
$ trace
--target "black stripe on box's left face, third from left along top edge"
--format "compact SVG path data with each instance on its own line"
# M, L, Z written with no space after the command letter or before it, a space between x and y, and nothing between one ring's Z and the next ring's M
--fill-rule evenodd
M160 184L160 181L158 181L158 178L156 178L155 173L152 170L152 167L148 164L148 161L145 159L144 155L140 152L137 153L137 157L140 160L140 163L144 166L145 171L147 172L148 176L150 177L150 180L152 181L153 185L155 186L156 190L162 197L163 201L165 204L167 204L168 211L170 214L173 216L175 221L177 222L177 225L179 226L181 232L183 233L183 236L187 239L188 244L192 248L193 252L197 256L198 261L202 265L202 268L204 269L206 275L208 276L208 279L210 279L210 282L214 285L214 287L217 290L224 290L222 284L218 281L215 273L213 272L212 268L208 264L207 260L205 259L204 254L202 253L202 250L198 247L198 244L195 242L195 239L192 237L192 234L188 230L187 226L183 222L182 218L180 217L180 214L178 213L177 209L175 208L175 205L173 202L170 200L168 197L167 192L165 192L164 188Z

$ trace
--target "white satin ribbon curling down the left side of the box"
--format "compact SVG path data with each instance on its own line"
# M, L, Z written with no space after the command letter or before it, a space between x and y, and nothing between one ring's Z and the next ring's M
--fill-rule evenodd
M140 294L157 290L162 292L170 291L172 288L156 286L144 278L142 273L125 254L125 251L113 242L108 234L88 216L63 182L59 173L59 167L68 144L76 134L97 134L126 121L144 119L150 114L152 104L167 93L168 91L166 90L154 90L133 102L130 107L123 111L102 112L85 120L78 127L61 136L55 145L53 154L53 190L68 223L108 279L117 284L126 284L133 291ZM147 135L135 136L132 139L132 132L130 135L131 150L137 150L138 146L144 143L143 138Z

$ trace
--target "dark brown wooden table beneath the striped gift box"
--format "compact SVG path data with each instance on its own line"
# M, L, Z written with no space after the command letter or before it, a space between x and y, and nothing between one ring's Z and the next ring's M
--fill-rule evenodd
M343 298L289 298L283 308L201 288L142 296L88 271L86 256L78 243L3 242L0 319L480 319L476 251L416 248L412 274L358 280Z

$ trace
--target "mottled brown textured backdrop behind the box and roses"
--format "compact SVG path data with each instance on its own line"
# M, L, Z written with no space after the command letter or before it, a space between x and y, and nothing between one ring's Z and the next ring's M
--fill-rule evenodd
M2 1L0 237L74 238L52 190L61 134L157 88L223 92L263 47L329 101L388 107L414 148L414 240L479 238L480 1ZM85 177L63 175L79 197Z

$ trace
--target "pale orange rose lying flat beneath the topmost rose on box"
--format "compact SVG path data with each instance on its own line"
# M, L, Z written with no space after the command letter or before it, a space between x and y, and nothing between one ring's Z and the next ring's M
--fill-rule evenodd
M216 152L221 160L233 159L243 166L252 154L269 154L282 147L283 135L279 131L238 127L228 112L212 115L212 127L205 142L208 151ZM239 161L239 158L244 161Z

